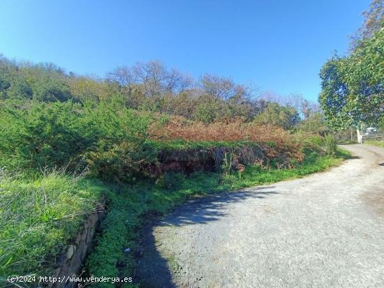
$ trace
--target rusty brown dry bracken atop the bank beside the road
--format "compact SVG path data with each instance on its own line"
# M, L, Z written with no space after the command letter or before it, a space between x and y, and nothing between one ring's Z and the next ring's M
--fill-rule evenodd
M269 166L272 160L277 167L293 167L295 162L304 159L302 145L289 132L277 126L241 122L208 124L182 120L175 117L164 126L153 124L149 128L149 134L152 139L161 142L224 142L222 146L208 145L206 150L209 151L209 158L214 158L217 165L226 160L226 155L230 155L230 165L234 168L256 163ZM231 145L230 142L237 142L239 145ZM190 150L190 153L179 151L177 156L168 156L169 160L181 158L180 155L184 153L195 156L202 154L201 149ZM238 163L235 164L236 162Z

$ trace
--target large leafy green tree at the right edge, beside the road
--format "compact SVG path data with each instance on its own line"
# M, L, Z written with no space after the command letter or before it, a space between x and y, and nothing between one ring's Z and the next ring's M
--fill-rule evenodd
M377 125L384 116L384 29L362 40L349 56L332 57L320 78L319 102L327 126Z

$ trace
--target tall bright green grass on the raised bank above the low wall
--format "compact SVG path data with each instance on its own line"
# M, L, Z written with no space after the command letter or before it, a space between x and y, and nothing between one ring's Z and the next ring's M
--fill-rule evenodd
M31 179L0 170L0 278L52 275L56 257L94 211L102 191L92 181L61 172Z

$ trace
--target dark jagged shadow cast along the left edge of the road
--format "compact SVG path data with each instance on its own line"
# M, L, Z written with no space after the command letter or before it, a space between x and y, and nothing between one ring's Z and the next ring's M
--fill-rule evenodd
M279 194L279 192L274 191L274 186L267 186L193 199L182 206L178 206L175 211L162 220L147 225L142 232L136 281L140 282L140 287L176 287L172 282L172 271L170 270L172 263L170 263L170 259L162 257L156 247L158 244L153 232L154 227L206 224L228 215L224 212L228 204L250 198L263 199L275 194Z

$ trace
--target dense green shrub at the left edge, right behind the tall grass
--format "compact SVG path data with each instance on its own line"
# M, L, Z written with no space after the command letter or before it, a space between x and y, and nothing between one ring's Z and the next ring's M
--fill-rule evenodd
M82 165L82 155L94 143L80 106L66 103L31 103L17 107L0 103L0 165L63 167ZM82 167L84 168L84 167Z

